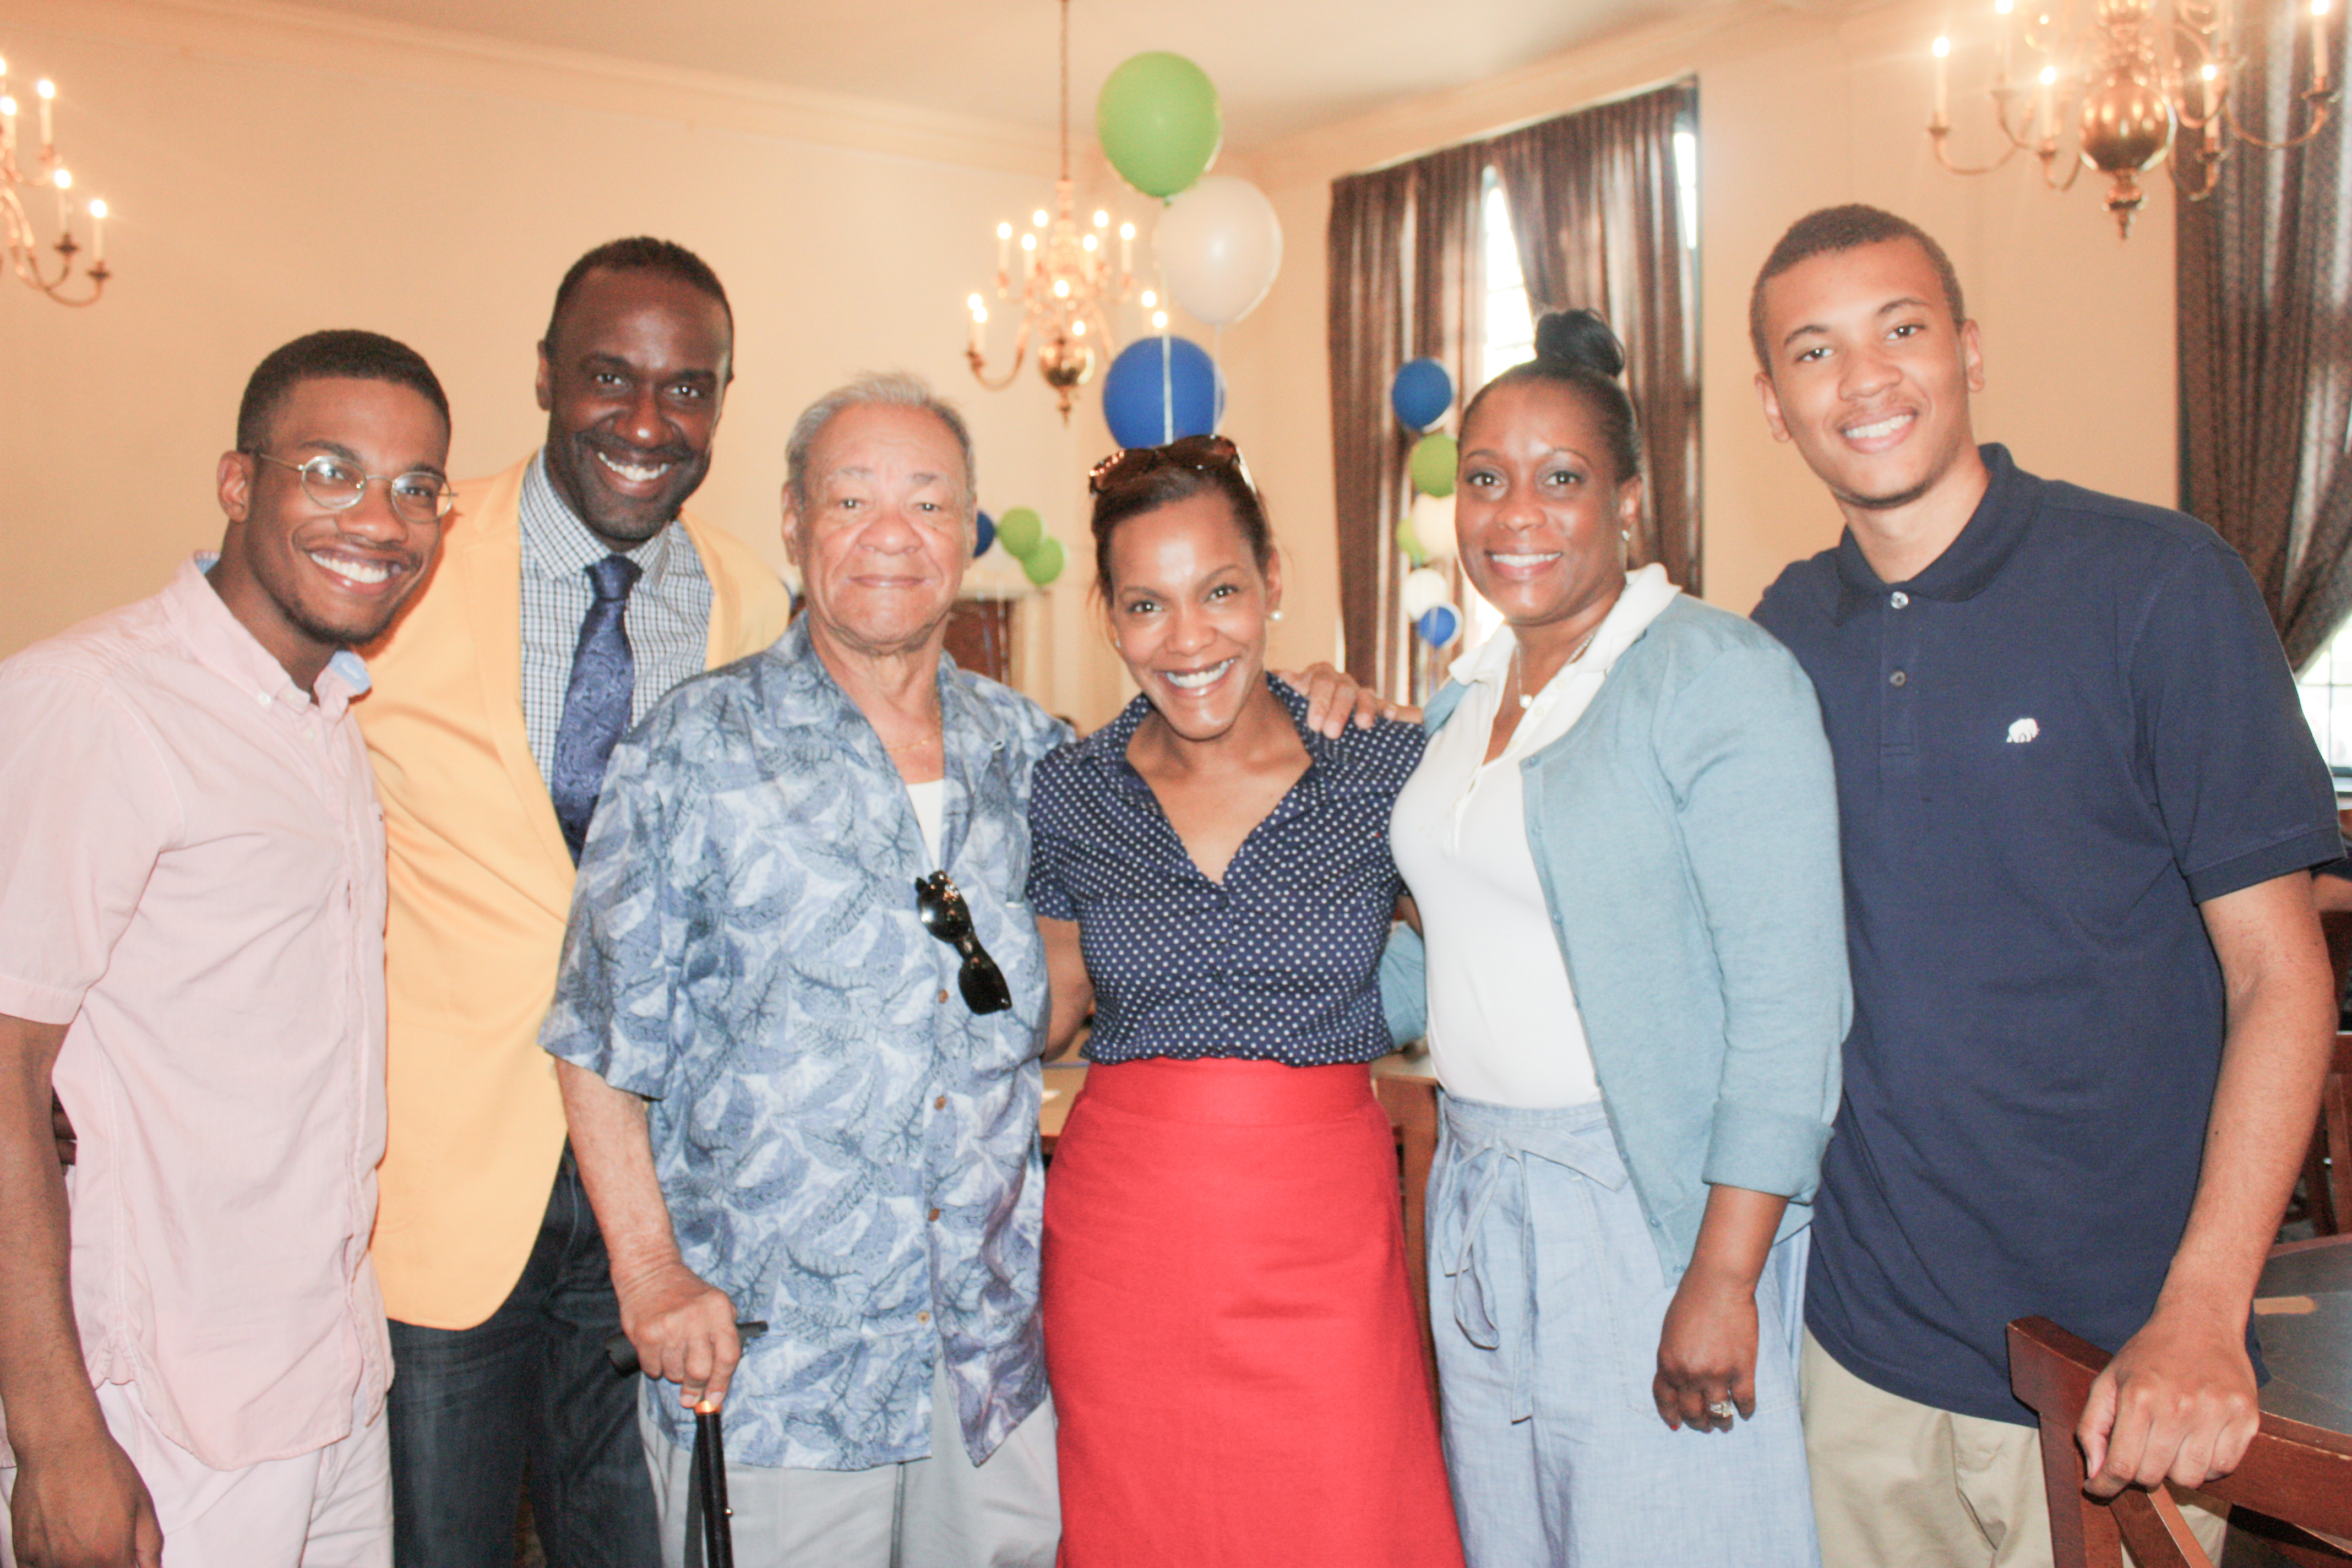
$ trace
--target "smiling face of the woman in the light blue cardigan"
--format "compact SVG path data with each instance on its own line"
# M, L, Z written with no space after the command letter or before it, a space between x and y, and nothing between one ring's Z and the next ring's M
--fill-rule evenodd
M1496 386L1461 449L1454 541L1470 583L1522 642L1599 625L1625 592L1642 477L1616 473L1585 395L1543 378Z

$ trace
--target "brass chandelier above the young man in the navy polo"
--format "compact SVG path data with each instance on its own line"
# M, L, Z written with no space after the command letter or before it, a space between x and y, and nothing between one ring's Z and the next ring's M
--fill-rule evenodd
M2023 0L2025 9L2020 0L1992 0L1987 96L2006 146L1987 165L1952 160L1952 40L1938 38L1936 115L1926 127L1936 162L1955 174L1990 174L2030 153L2051 190L2072 188L2086 167L2098 169L2107 176L2107 212L2129 237L2147 195L2138 176L2166 153L2173 186L2194 202L2213 193L2232 141L2281 150L2331 125L2338 99L2328 78L2331 0L2293 2L2310 19L2307 71L2291 113L2300 125L2267 139L2246 127L2230 92L2246 66L2232 0L2173 0L2171 16L2159 16L2154 0L2093 0L2091 26L2074 26L2072 0Z

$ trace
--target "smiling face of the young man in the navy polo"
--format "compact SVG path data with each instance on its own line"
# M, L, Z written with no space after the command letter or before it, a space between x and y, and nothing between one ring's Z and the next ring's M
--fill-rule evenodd
M1867 527L1870 512L1945 489L1973 505L1983 465L1969 393L1985 388L1985 362L1976 322L1952 320L1915 240L1825 252L1766 282L1764 348L1764 423L1849 522Z

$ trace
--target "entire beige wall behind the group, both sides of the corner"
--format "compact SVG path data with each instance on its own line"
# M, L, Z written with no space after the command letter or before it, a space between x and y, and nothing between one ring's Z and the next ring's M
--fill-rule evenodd
M1287 550L1277 663L1336 649L1329 181L1691 71L1710 599L1748 609L1837 534L1764 435L1745 343L1757 261L1823 202L1882 202L1950 244L1985 324L1985 437L2171 501L2169 183L2119 244L2086 186L2053 197L2020 169L1936 169L1919 122L1938 26L1936 5L1837 16L1740 0L1228 158L1287 235L1272 294L1223 341L1228 428ZM242 376L299 331L365 324L421 348L456 404L461 473L529 451L532 343L555 280L588 244L652 230L703 252L739 317L741 378L699 510L781 562L793 411L856 369L922 371L974 416L983 505L1035 505L1070 548L1063 583L1023 611L1023 686L1084 724L1129 691L1084 590L1082 473L1108 449L1094 397L1065 430L1028 374L981 393L960 353L993 223L1047 190L1044 139L268 0L0 0L0 52L66 85L68 153L120 214L120 277L99 308L0 287L0 654L148 592L216 536L209 475ZM1131 193L1127 212L1145 216ZM983 576L1002 583L1002 557Z

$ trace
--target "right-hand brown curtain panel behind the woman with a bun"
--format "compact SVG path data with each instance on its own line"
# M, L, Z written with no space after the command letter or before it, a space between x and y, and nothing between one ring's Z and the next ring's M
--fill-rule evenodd
M1698 82L1529 125L1486 143L1536 315L1597 310L1625 343L1649 463L1632 559L1698 581L1698 266L1682 226L1675 132Z

